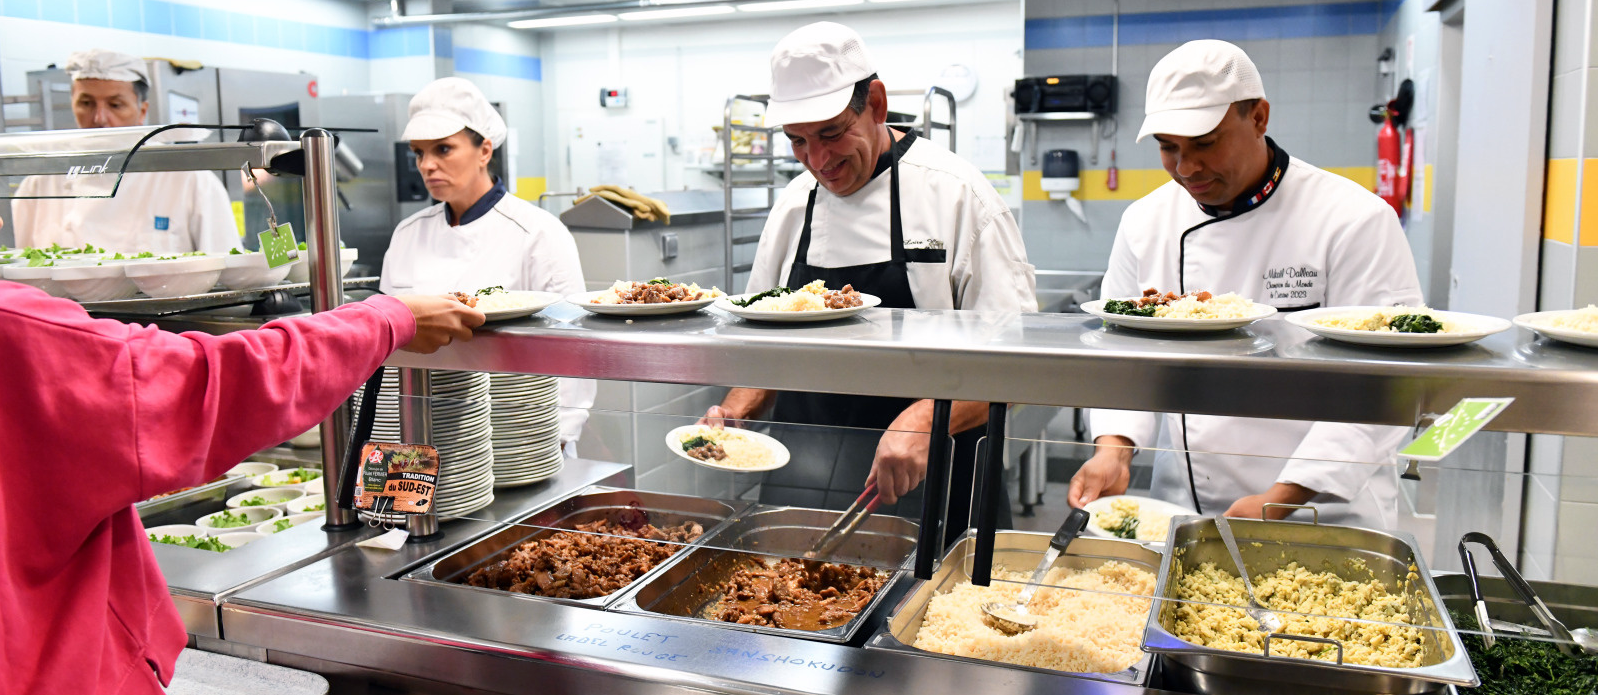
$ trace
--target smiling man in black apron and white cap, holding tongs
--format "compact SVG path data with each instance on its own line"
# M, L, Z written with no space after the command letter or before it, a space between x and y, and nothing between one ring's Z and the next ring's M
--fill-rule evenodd
M1010 208L975 166L885 125L887 88L858 34L815 22L785 37L772 51L770 94L765 125L783 128L805 174L765 220L748 291L825 280L890 308L1037 310ZM775 420L826 428L789 443L794 465L765 475L764 502L837 508L876 483L892 505L927 475L932 401L735 388L706 419L757 417L773 401ZM954 404L951 430L967 436L956 451L951 534L965 529L959 508L970 500L975 428L986 417L986 404ZM917 497L890 511L914 514Z

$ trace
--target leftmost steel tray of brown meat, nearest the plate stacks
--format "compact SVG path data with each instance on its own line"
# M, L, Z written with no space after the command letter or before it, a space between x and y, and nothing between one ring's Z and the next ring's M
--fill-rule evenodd
M555 535L558 532L556 529L574 529L577 524L586 524L591 521L614 521L615 514L620 513L644 511L649 514L649 522L655 526L676 526L684 521L695 521L703 526L705 532L689 545L692 546L714 537L719 529L725 526L727 519L737 516L737 513L746 506L748 502L721 502L700 497L625 490L601 486L585 487L550 506L516 519L494 534L489 534L460 550L404 574L401 580L444 585L468 591L484 591L518 599L555 601L602 609L620 599L631 586L593 599L562 599L502 591L486 586L470 586L465 583L465 578L470 577L478 567L499 561L502 554L515 550L524 542ZM682 550L678 550L676 554L657 564L649 572L644 572L644 575L633 583L639 585L647 582L682 554Z

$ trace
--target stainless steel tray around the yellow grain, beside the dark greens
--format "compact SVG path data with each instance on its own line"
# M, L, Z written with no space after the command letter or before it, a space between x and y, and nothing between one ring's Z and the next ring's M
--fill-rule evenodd
M1230 567L1232 561L1221 543L1214 522L1202 516L1178 516L1171 519L1170 551L1160 564L1160 580L1155 596L1160 606L1149 612L1143 649L1165 657L1167 677L1195 692L1251 693L1286 689L1314 692L1379 692L1424 693L1446 685L1477 685L1475 669L1465 653L1448 612L1437 599L1437 586L1425 569L1425 561L1408 534L1355 529L1350 526L1307 524L1296 521L1234 519L1232 530L1243 562L1254 575L1275 572L1288 562L1339 577L1368 582L1373 575L1389 591L1398 591L1400 583L1413 572L1417 580L1408 582L1409 612L1414 625L1424 629L1427 661L1419 668L1385 668L1363 665L1338 665L1293 657L1264 657L1246 652L1227 652L1200 647L1171 633L1175 615L1183 601L1176 601L1176 577L1183 567L1214 562ZM1354 567L1363 562L1363 569Z

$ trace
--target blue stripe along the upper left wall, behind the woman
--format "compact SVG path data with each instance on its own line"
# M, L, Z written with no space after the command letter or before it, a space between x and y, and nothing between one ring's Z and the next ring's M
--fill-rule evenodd
M1392 0L1387 0L1392 2ZM356 59L438 56L479 75L542 80L534 56L455 46L447 27L348 29L273 19L171 0L0 0L0 16L112 27L163 37L205 38ZM1104 27L1109 19L1104 18ZM1096 27L1098 24L1095 24ZM1028 22L1031 35L1031 22ZM1077 42L1083 37L1077 37Z

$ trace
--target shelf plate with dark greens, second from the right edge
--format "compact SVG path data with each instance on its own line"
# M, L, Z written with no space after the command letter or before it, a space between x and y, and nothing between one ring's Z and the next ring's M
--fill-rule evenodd
M1427 307L1328 307L1286 320L1330 340L1376 347L1464 345L1510 329L1502 318Z

